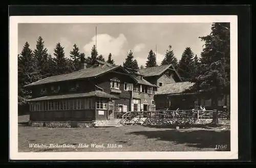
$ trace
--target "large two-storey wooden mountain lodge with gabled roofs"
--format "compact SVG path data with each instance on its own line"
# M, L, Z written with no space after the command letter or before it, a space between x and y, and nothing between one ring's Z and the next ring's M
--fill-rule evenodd
M82 64L79 71L50 76L25 87L32 90L32 99L27 100L32 126L71 127L75 123L88 127L119 118L127 111L169 108L170 101L182 102L179 107L188 105L183 98L169 98L187 85L172 65L133 70L97 61L94 66ZM194 100L190 101L192 105Z

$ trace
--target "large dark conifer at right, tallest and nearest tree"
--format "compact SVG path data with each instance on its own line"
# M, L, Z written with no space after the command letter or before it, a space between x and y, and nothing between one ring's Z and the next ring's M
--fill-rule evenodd
M194 88L211 98L212 106L218 106L218 98L230 94L230 23L212 23L211 33L199 37L205 42L200 59L199 74L191 81ZM218 120L212 120L218 124Z

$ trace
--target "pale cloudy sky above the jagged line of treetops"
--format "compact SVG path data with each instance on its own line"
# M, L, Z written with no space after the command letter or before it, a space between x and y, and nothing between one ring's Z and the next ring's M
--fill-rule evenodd
M26 41L35 49L36 40L41 36L52 55L56 43L60 42L67 58L74 43L89 56L95 44L96 26L97 50L105 60L111 52L115 63L121 65L131 49L140 66L145 65L148 51L156 51L156 46L158 64L168 45L172 45L178 60L185 47L191 47L199 56L204 43L198 37L210 33L211 23L19 23L18 52Z

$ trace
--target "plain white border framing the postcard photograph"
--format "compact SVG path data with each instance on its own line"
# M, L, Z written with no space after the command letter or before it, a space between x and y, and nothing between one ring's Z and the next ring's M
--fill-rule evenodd
M202 23L230 22L230 149L225 152L18 152L17 54L18 23ZM11 160L104 159L238 159L238 18L236 15L189 16L10 16L9 117Z

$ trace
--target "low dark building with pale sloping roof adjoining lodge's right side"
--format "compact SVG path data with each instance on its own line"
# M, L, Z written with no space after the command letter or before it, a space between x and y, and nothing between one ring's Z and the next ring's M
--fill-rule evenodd
M200 93L188 93L194 83L189 81L169 83L158 89L155 95L156 109L188 110L202 105L212 110L211 99L205 99ZM218 100L218 110L230 109L230 96L225 95Z

